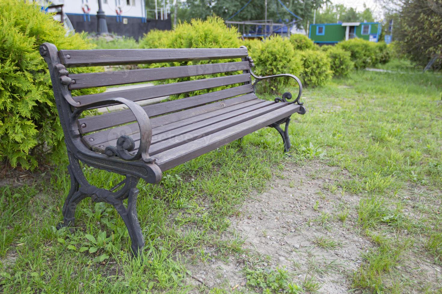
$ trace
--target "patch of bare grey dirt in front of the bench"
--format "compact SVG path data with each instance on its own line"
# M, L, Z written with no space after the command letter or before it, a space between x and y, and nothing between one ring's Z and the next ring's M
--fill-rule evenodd
M267 257L262 268L285 267L299 285L313 276L322 293L347 292L351 289L348 273L359 267L362 252L372 245L350 229L359 197L328 190L339 178L348 178L347 172L320 163L291 165L276 172L270 188L251 195L242 214L231 218L232 232L246 240L244 248L249 252ZM346 225L337 219L343 211L349 213ZM317 244L321 238L335 244L323 248ZM246 290L242 258L247 257L192 265L193 278L188 283L198 286L195 293L202 284L207 290Z

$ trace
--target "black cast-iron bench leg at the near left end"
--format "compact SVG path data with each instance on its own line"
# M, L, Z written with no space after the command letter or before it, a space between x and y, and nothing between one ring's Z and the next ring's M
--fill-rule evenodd
M131 249L134 256L138 256L144 248L144 238L138 222L137 214L137 196L139 190L136 188L139 181L138 178L127 175L126 179L110 190L100 189L91 184L84 176L80 162L68 151L69 166L68 171L71 176L71 188L68 197L66 197L63 205L63 222L57 226L70 227L73 232L75 225L75 211L77 205L86 197L91 197L92 201L108 203L117 210L118 214L126 224L132 241ZM124 184L124 186L122 186ZM119 187L121 187L118 191ZM127 199L127 207L123 201Z

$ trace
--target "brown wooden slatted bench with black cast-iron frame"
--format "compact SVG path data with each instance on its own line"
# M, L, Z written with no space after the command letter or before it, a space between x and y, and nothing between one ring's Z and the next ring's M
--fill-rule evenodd
M49 67L71 176L71 188L63 206L64 220L59 228L74 226L76 206L82 199L91 197L93 201L109 203L124 220L135 255L145 244L136 209L136 186L140 178L148 183L158 183L162 172L267 126L278 130L287 151L290 148L290 115L305 113L299 102L302 91L299 79L291 74L256 76L251 71L254 64L245 47L58 51L55 45L44 43L40 46L40 54ZM198 64L200 60L227 61ZM187 61L197 64L83 74L69 74L66 69ZM227 75L204 77L217 73ZM201 79L76 97L71 95L74 89L197 76ZM293 78L299 85L296 99L292 99L290 93L284 93L275 101L261 100L256 96L256 83L283 76ZM136 103L203 89L215 90L145 106ZM116 104L124 104L127 108L81 117L85 110ZM286 124L284 130L280 127L282 123ZM93 186L85 178L79 160L126 178L110 190ZM128 199L127 207L123 205L125 199Z

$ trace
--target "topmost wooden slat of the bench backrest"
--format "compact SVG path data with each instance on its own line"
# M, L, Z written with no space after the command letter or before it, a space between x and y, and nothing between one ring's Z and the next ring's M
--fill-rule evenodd
M191 60L231 59L247 56L246 48L185 48L185 49L94 49L60 50L66 67L90 67L160 63Z

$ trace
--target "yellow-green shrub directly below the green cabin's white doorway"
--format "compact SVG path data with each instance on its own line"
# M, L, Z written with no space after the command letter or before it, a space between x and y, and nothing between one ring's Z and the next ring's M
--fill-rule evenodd
M340 42L336 46L350 52L354 67L361 69L376 63L377 52L373 44L373 42L356 38Z

